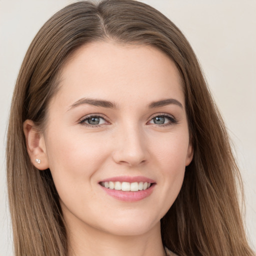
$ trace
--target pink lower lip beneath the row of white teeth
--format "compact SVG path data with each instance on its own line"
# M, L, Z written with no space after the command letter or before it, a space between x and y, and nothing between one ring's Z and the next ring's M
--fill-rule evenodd
M138 191L115 190L115 189L106 188L104 186L101 186L101 188L108 195L110 195L118 200L134 202L134 201L139 201L139 200L142 200L142 199L148 197L152 193L154 186L155 186L155 183L152 184L149 188L147 188L145 190L138 190Z

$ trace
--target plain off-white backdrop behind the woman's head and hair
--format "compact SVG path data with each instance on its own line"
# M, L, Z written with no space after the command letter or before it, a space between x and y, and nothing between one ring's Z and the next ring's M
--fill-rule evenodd
M191 43L223 115L245 189L246 231L256 248L256 1L142 0ZM74 0L0 0L0 256L12 255L6 197L6 125L15 79L41 25Z

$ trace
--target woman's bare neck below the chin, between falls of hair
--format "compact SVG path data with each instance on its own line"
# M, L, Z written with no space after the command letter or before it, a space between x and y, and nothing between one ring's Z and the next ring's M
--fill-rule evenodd
M73 223L72 223L73 227ZM69 228L68 256L164 256L160 222L138 235L115 235L91 226Z

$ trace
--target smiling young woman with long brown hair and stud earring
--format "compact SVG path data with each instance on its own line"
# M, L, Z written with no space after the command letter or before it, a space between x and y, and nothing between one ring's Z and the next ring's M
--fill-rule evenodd
M42 26L13 94L7 177L16 255L253 255L196 57L140 2L77 2Z

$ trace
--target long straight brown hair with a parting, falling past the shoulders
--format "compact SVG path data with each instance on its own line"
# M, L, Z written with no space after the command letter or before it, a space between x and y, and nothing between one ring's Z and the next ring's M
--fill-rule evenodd
M152 45L174 61L182 78L194 154L179 195L161 219L163 244L180 256L253 255L240 214L239 171L194 52L168 18L133 0L70 4L42 26L27 50L13 93L6 151L15 255L67 255L50 170L39 171L30 162L22 124L31 119L43 127L61 66L79 46L97 40Z

